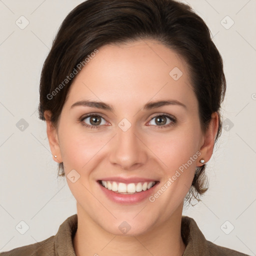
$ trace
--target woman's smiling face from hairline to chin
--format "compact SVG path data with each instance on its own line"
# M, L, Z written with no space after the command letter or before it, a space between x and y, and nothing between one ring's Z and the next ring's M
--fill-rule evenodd
M73 80L55 138L51 150L63 161L77 212L131 235L181 215L195 167L213 146L200 129L185 62L153 40L99 48ZM125 189L131 194L118 193Z

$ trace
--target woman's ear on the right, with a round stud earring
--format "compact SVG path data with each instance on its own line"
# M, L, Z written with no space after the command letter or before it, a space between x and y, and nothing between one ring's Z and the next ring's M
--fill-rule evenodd
M217 134L218 129L218 123L219 123L219 115L217 112L213 112L211 114L211 120L208 126L208 129L206 130L203 139L202 139L202 145L200 147L200 158L204 158L204 162L207 162L213 152L213 146L214 146L214 140L215 136ZM203 163L199 162L199 166L202 166Z

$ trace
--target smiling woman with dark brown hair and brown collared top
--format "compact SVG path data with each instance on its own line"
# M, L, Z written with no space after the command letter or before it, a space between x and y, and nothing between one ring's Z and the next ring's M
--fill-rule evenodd
M55 236L0 255L245 255L182 216L206 191L226 84L203 22L174 0L87 0L44 62L39 114L77 201Z

